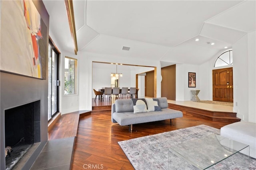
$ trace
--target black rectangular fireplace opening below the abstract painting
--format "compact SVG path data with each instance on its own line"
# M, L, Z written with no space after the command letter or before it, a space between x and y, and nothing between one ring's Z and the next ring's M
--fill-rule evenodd
M5 110L6 169L40 142L40 100ZM11 149L10 149L11 148Z

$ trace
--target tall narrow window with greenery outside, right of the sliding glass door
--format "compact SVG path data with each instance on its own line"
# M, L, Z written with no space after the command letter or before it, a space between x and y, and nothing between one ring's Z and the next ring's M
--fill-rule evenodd
M76 94L77 60L65 57L64 94Z

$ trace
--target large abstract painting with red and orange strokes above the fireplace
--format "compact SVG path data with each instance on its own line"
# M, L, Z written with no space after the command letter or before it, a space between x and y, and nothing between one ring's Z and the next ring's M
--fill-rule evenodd
M0 70L46 79L47 27L32 0L1 1Z

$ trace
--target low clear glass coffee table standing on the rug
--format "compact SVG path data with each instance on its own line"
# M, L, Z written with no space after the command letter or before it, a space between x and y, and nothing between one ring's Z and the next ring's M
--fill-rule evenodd
M177 168L173 167L173 160L171 160L174 158L173 154L204 170L241 150L249 155L249 145L221 137L217 134L209 135L170 147L168 152L168 169L173 170ZM245 164L249 166L249 162L250 156L248 156L248 162L246 161Z

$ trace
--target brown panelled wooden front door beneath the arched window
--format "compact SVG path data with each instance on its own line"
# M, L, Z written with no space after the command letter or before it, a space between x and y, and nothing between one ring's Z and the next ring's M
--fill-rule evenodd
M233 102L233 68L212 70L212 100Z

